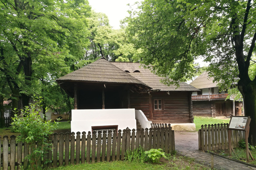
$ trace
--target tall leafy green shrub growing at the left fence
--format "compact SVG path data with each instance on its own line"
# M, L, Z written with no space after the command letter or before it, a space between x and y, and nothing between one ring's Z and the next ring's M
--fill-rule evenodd
M25 157L29 160L31 169L40 169L44 155L49 146L49 135L53 133L58 122L52 124L50 121L43 121L40 117L42 98L34 97L34 103L21 110L21 115L14 115L11 127L14 132L20 133L18 142L26 142L31 146L31 153ZM37 147L34 147L37 142Z

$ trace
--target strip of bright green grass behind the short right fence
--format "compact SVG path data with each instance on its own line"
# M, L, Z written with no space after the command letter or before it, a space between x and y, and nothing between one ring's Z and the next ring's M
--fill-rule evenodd
M201 129L201 125L229 123L229 120L230 120L230 118L219 119L219 118L214 118L214 117L194 116L194 123L196 124L196 131Z

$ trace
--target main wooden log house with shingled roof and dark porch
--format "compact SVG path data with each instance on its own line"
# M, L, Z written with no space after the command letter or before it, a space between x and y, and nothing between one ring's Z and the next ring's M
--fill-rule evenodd
M135 108L153 123L193 123L187 83L167 86L139 63L115 63L105 58L82 67L57 82L74 97L75 109Z

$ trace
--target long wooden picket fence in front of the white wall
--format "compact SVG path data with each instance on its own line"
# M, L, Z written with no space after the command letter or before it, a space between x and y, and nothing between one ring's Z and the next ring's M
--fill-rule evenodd
M88 132L87 135L86 132L54 133L50 137L50 143L52 145L42 160L42 167L45 169L70 164L124 160L126 152L139 147L145 150L162 148L165 153L175 150L174 131L170 125L137 131L103 131L102 134L98 133L98 137L95 131L92 134ZM31 146L26 143L17 143L14 135L10 139L7 136L0 137L0 170L28 167L29 162L25 157L30 149Z

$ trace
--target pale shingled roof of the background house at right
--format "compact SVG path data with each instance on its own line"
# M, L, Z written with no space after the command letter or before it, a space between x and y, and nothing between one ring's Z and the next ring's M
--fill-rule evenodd
M199 77L190 83L191 86L194 86L197 89L204 88L213 88L217 87L217 82L213 82L213 77L209 77L207 72L203 72Z

